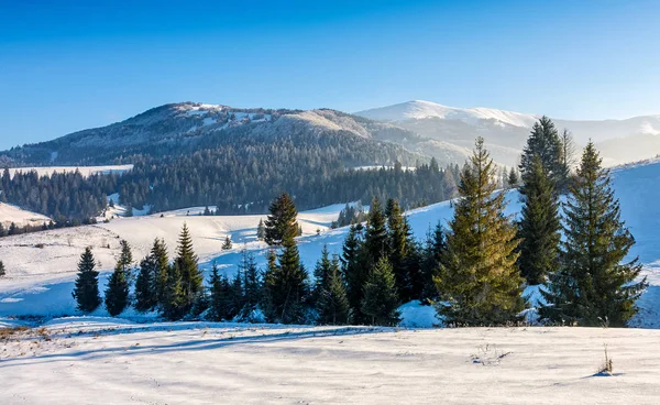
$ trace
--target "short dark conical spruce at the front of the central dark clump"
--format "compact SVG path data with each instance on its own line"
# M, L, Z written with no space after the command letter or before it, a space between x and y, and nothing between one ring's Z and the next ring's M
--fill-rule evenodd
M396 326L400 321L395 276L387 258L381 258L364 285L362 311L372 325Z

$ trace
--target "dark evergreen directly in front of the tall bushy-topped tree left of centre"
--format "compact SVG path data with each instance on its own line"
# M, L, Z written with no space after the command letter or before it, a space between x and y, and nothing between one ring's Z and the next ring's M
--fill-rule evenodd
M302 302L307 296L307 271L300 264L298 247L290 233L285 233L277 264L265 280L268 296L266 317L271 321L294 324L302 321Z

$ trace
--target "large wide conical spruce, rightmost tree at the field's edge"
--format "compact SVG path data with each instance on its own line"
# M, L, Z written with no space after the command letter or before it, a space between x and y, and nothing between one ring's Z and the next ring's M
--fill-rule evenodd
M626 326L648 284L646 277L639 280L637 259L623 262L635 239L620 219L609 172L592 142L582 155L564 215L560 267L542 291L548 305L541 317L582 326Z

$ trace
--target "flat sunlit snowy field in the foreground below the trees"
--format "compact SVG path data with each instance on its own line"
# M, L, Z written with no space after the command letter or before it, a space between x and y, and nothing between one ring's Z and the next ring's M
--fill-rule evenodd
M658 404L660 330L53 320L0 338L0 404ZM614 375L600 375L604 344Z

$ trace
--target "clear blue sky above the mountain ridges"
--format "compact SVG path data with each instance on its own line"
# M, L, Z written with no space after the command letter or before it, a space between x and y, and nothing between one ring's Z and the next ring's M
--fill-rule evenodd
M659 1L0 0L0 149L167 102L660 113Z

